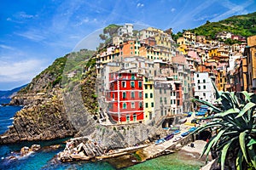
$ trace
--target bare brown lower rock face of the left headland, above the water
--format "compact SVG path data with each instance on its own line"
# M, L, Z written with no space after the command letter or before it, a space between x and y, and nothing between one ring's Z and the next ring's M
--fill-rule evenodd
M18 111L13 125L0 136L0 144L73 136L76 130L65 113L60 90Z

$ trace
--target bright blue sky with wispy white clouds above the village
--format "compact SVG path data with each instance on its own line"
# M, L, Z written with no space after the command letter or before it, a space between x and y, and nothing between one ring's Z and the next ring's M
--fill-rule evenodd
M56 58L96 49L109 24L174 32L256 11L255 0L0 0L0 90L32 81ZM82 45L81 45L81 42Z

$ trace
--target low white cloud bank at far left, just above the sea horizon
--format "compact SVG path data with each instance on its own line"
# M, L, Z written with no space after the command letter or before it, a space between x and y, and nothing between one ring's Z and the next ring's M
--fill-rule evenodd
M0 82L26 82L32 80L44 68L44 61L27 59L21 61L0 60Z

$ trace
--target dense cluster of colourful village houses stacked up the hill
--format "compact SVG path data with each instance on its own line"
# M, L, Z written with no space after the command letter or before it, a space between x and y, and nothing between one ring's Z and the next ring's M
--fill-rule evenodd
M153 27L135 35L125 24L96 54L99 107L111 122L154 125L192 111L192 98L213 104L212 82L221 91L255 91L256 36L219 32L220 39L241 41L230 46L190 31L177 42L171 35Z

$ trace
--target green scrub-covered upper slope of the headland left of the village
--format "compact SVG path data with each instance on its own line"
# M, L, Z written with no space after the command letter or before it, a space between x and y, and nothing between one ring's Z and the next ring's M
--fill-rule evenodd
M84 70L89 69L89 65L92 65L93 62L88 64L87 59L90 59L93 54L95 54L95 51L82 49L79 52L73 52L64 57L55 59L52 65L49 65L49 67L38 74L38 76L34 77L26 88L20 90L19 94L48 92L57 86L61 87L63 76L67 76L65 74L70 72L76 72L76 74L69 82L79 81Z

